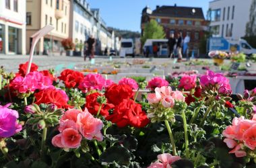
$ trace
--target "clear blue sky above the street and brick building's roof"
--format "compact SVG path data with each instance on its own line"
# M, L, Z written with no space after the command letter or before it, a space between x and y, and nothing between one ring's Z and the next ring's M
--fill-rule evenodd
M207 13L209 1L212 0L88 0L91 8L99 8L102 19L107 26L121 30L140 32L141 11L146 5L152 10L156 5L174 5L202 7Z

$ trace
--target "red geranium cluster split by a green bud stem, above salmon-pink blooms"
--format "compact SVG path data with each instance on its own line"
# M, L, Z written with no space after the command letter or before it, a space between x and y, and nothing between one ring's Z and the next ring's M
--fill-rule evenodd
M91 114L96 115L98 113L98 109L100 108L100 103L97 102L97 97L103 96L101 93L92 93L86 96L86 108ZM100 114L104 117L109 116L108 110L115 108L115 106L111 103L106 103L102 105L100 110Z

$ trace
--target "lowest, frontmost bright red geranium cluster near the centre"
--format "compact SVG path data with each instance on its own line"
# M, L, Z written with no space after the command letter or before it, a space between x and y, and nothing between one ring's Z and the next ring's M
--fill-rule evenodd
M131 99L123 99L106 120L116 123L119 127L131 125L136 128L143 128L150 122L146 112L142 111L141 105Z

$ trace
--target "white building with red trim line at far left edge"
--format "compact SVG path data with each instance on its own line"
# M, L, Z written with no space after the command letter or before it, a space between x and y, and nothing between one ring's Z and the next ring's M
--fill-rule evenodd
M0 1L0 54L26 54L26 0Z

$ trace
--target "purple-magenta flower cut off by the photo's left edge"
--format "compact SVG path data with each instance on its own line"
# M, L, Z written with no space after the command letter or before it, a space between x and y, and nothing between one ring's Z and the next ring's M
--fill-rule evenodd
M11 103L5 106L0 106L0 138L8 138L22 130L22 125L18 124L19 114L15 110L8 107Z

